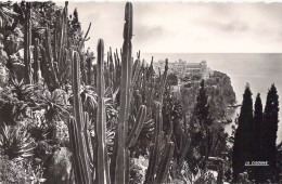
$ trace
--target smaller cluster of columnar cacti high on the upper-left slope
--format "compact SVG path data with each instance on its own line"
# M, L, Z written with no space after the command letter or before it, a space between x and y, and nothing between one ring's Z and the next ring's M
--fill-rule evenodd
M60 31L54 29L52 32L55 37L53 43L48 25L42 36L31 38L31 3L26 2L24 27L24 78L26 83L44 82L50 91L65 84L70 73L70 49L67 44L67 2L57 21L57 29ZM34 51L31 51L33 39Z

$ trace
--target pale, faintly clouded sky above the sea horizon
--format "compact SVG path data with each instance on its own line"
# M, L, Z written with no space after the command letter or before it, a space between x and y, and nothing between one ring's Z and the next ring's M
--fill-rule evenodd
M64 3L61 3L64 4ZM133 52L281 53L282 3L132 2ZM77 8L86 42L95 52L123 45L125 2L69 2Z

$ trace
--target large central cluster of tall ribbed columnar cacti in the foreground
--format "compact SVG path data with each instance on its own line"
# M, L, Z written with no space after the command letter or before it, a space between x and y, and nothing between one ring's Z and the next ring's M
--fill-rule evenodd
M162 118L163 93L166 86L168 61L166 61L166 69L158 86L158 88L161 88L161 91L157 93L158 102L154 102L156 83L154 80L153 65L151 64L150 67L145 67L144 62L141 64L140 52L138 53L136 62L132 62L131 38L132 4L128 2L125 11L124 45L120 51L121 61L119 60L117 51L113 57L112 50L110 50L107 61L104 62L103 40L99 40L98 43L98 61L93 68L93 83L97 89L97 108L94 113L95 116L92 116L92 120L94 122L95 133L92 139L86 135L89 133L87 133L89 130L86 129L88 122L82 118L84 116L81 116L88 114L84 113L84 108L81 107L79 92L79 82L81 82L81 80L78 69L79 64L77 63L78 54L74 55L72 76L75 118L70 118L69 120L69 139L72 143L75 144L72 144L74 155L78 155L74 160L74 166L76 167L75 172L77 172L75 175L77 183L88 183L89 179L91 180L89 183L128 183L129 149L138 142L142 128L149 119L153 119L155 123L155 139L152 152L150 153L150 166L145 183L164 182L164 175L166 175L169 169L175 145L169 136L164 135ZM91 71L91 69L88 70ZM88 83L91 84L91 81L88 81ZM106 87L110 87L114 92L118 90L119 96L119 100L117 100L119 107L118 121L115 129L114 147L111 159L107 158L108 153L106 148L106 107L104 97ZM77 128L76 131L78 131L78 133L74 133L74 128ZM80 134L79 132L84 133ZM91 143L87 143L87 140ZM88 152L91 148L92 152ZM91 159L92 156L93 158ZM108 160L111 160L111 165L108 165ZM79 174L81 172L86 174Z

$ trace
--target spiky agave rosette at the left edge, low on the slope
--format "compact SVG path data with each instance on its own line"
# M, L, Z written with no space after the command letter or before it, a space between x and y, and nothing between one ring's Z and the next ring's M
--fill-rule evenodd
M35 142L21 126L5 126L0 128L0 149L9 159L33 156Z

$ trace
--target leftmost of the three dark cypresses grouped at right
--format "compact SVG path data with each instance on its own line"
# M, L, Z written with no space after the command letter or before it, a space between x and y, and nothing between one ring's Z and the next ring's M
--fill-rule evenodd
M252 159L253 100L249 86L246 86L241 113L238 120L232 155L233 180L246 170L245 162Z

